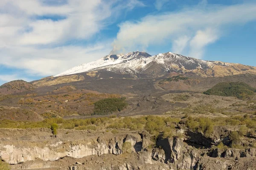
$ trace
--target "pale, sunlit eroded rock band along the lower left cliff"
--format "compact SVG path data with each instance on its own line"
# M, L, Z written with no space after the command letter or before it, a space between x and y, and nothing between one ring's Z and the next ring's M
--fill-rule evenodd
M13 144L2 145L0 146L0 157L9 164L19 164L26 161L35 161L37 158L44 161L55 161L65 156L83 158L90 155L121 154L124 142L131 143L133 152L141 151L142 139L140 135L131 134L116 136L111 139L99 137L93 142L58 142L56 144L45 144L44 147L36 145L31 147L16 147Z

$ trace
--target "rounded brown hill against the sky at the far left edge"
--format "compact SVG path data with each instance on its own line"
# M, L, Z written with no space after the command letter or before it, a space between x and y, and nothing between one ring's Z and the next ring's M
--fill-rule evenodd
M1 85L0 94L15 94L22 91L34 90L35 88L38 87L24 80L15 80Z

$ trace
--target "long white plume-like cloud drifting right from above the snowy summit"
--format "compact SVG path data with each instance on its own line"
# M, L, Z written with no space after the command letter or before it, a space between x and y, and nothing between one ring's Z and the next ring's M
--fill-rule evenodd
M199 4L180 11L148 15L127 21L113 42L113 53L144 49L149 45L172 43L172 51L201 58L204 47L225 34L225 26L256 20L256 3L233 6ZM184 51L185 50L185 51Z

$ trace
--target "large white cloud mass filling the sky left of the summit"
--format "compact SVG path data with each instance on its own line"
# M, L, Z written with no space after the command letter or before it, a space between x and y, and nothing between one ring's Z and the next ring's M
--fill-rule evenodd
M52 5L56 1L0 0L0 65L25 70L30 76L49 76L103 57L113 40L91 44L91 37L121 11L144 6L139 0L64 1ZM69 41L75 44L65 45ZM5 74L0 73L2 81L20 79L20 74Z

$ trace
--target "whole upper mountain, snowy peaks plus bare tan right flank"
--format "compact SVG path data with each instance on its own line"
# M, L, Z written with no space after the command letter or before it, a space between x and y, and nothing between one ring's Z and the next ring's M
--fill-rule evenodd
M108 72L107 75L110 76L110 73L130 74L131 77L162 77L169 72L201 77L224 77L236 74L256 74L256 67L205 61L171 52L151 56L145 52L136 51L126 55L108 55L94 62L71 68L54 77L81 73L87 73L90 77L102 77L100 74L103 72Z

